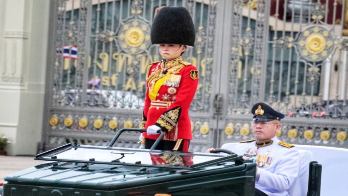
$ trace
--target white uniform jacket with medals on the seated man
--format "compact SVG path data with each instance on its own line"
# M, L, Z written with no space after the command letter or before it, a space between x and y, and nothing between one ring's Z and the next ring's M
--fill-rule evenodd
M264 161L263 164L257 166L259 178L256 179L255 188L267 196L287 196L287 190L298 176L299 152L296 147L287 148L278 144L277 137L273 137L271 140L273 143L260 147L256 156L250 156L250 154L255 155L257 150L255 141L237 144L232 151L243 155L244 159L257 160L260 155L261 160L263 158ZM269 163L266 162L267 160Z

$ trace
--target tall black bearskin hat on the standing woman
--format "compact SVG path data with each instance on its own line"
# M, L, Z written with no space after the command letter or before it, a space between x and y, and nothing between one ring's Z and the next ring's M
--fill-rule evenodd
M151 26L152 44L194 45L195 32L191 15L184 7L163 7Z

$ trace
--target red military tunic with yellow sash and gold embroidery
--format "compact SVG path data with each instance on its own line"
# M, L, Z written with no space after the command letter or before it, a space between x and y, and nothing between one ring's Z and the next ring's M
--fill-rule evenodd
M142 127L157 125L165 131L164 140L192 139L188 109L196 93L198 71L181 57L155 62L147 70L147 90ZM157 135L143 133L145 138Z

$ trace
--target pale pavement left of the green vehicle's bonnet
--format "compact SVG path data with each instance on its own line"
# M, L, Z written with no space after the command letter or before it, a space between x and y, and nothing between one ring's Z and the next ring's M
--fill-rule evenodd
M47 161L34 160L34 156L0 156L0 183L5 176L23 169L45 163Z

